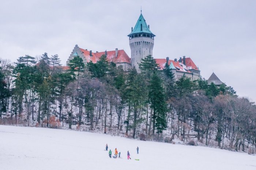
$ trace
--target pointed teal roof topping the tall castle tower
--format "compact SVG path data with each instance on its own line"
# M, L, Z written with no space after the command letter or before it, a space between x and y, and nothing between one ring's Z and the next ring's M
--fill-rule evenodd
M139 17L134 29L128 36L130 36L131 34L136 34L136 33L148 33L148 34L152 34L153 36L155 36L148 28L148 25L142 15L142 13L140 14L140 17Z

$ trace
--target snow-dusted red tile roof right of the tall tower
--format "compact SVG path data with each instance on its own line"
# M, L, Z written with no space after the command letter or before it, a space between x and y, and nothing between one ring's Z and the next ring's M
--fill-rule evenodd
M158 70L163 70L163 68L165 67L166 59L156 58L155 61L158 64ZM189 71L191 69L199 70L191 58L185 58L186 65L183 64L183 59L182 59L182 62L179 62L179 61L175 62L174 60L169 60L168 64L170 65L171 62L173 63L174 67L176 67L176 71L178 72L191 73Z

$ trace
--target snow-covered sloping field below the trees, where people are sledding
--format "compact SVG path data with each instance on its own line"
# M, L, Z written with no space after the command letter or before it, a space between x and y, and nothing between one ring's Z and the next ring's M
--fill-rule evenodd
M117 148L123 159L104 151ZM136 154L136 147L139 154ZM132 160L127 160L129 150ZM136 161L135 159L139 159ZM216 148L0 125L0 170L256 170L256 157Z

